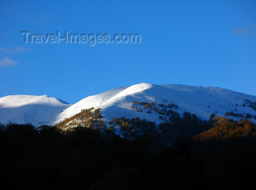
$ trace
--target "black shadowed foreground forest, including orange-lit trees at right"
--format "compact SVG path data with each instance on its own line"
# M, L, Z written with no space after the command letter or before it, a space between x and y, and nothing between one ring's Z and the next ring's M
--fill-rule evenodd
M226 117L214 117L209 123L208 131L157 149L147 135L131 140L112 130L1 125L1 189L255 187L255 124Z

